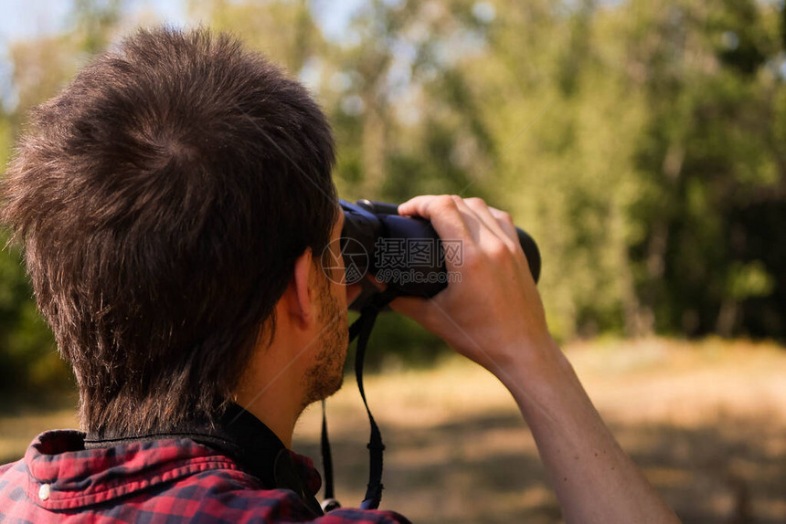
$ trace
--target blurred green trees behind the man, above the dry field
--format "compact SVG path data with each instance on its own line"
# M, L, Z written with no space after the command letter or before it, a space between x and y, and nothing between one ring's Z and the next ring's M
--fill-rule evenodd
M321 33L314 6L191 10L313 90L334 125L343 197L454 193L509 210L541 247L560 340L786 338L779 5L369 0L337 38ZM80 1L71 33L15 44L19 103L0 115L0 154L25 112L112 39L121 7ZM65 376L18 262L0 259L6 390ZM382 316L371 345L410 362L442 348L397 315Z

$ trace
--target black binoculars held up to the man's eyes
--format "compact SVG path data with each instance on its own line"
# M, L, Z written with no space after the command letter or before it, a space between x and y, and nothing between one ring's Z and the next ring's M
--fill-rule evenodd
M377 288L366 281L371 274L399 295L430 298L460 275L447 270L462 266L462 241L441 239L429 220L398 215L397 204L358 200L350 204L339 200L344 211L341 255L346 284L361 283L363 292L351 309L360 309ZM529 271L537 282L540 277L540 252L532 236L516 227L518 240L526 255Z

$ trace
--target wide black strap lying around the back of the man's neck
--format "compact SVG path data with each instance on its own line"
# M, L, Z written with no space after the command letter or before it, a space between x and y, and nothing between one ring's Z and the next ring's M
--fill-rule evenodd
M303 484L303 478L292 462L292 455L281 439L257 417L230 403L218 427L193 424L180 431L146 435L98 438L85 436L85 449L112 447L144 440L188 438L199 444L218 449L232 457L250 475L257 477L269 489L292 489L314 514L322 515L322 508Z

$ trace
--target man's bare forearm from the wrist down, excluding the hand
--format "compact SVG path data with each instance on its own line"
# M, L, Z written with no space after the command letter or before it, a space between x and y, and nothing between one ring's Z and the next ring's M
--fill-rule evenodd
M556 344L542 354L536 364L508 368L503 382L531 428L566 522L679 522L603 424Z

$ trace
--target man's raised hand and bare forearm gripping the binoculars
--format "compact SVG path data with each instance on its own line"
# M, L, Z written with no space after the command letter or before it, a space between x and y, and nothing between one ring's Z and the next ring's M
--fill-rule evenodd
M401 215L460 239L461 279L433 299L391 307L500 378L532 428L568 522L678 522L600 420L548 334L546 312L510 215L478 199L418 196ZM478 341L482 341L481 345Z

